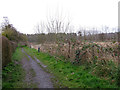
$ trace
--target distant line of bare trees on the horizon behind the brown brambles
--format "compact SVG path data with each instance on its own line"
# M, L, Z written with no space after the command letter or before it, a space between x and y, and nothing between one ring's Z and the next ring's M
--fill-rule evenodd
M67 42L67 41L118 41L118 33L99 33L78 35L76 33L48 33L48 34L27 34L29 42Z

